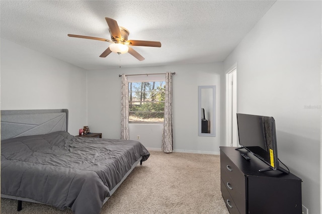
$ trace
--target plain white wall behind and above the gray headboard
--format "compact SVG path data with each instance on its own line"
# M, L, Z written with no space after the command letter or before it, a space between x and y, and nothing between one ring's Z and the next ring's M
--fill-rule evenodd
M1 110L68 109L68 132L87 124L86 70L1 39Z

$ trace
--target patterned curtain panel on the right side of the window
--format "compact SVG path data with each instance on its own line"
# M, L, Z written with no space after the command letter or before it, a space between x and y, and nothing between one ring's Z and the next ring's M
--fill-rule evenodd
M162 151L173 152L173 127L172 127L172 74L166 73L166 99L165 121L163 123Z

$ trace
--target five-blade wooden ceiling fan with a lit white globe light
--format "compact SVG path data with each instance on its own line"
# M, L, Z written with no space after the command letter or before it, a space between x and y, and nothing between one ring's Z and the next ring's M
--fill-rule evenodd
M100 40L104 42L111 42L112 44L100 55L100 57L107 57L110 53L115 52L118 54L129 53L134 56L136 59L142 61L144 57L142 57L138 52L136 52L130 46L147 46L147 47L161 47L160 42L155 41L144 41L144 40L128 40L130 32L118 26L117 22L111 18L105 17L107 25L109 26L109 31L111 34L111 40L98 38L98 37L90 37L90 36L81 36L74 34L67 34L69 37L83 38L83 39L94 39Z

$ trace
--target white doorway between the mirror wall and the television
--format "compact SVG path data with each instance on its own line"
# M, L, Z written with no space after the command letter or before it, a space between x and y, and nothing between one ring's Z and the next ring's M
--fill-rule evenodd
M226 146L238 146L237 66L226 73Z

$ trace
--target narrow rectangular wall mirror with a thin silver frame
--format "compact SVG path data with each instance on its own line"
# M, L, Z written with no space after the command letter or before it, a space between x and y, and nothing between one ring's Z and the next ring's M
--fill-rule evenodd
M198 86L198 135L216 136L216 86Z

